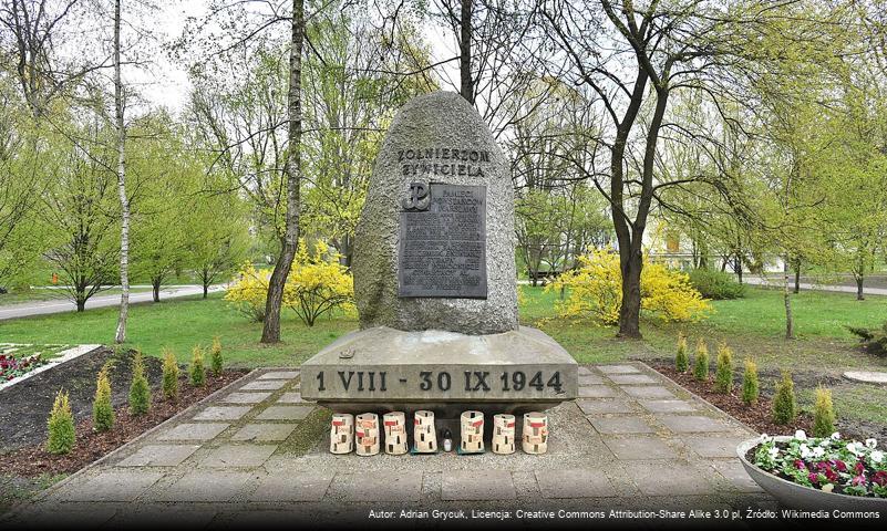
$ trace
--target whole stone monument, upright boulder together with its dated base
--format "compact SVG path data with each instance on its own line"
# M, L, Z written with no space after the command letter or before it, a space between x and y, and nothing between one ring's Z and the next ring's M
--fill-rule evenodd
M301 368L336 412L539 410L576 398L577 364L517 321L508 163L458 94L410 101L382 144L358 225L361 330Z

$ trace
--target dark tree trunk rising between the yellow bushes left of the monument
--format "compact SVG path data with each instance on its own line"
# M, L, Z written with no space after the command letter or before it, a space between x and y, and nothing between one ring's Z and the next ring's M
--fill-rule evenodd
M302 41L305 40L305 1L292 0L292 42L289 52L289 131L285 171L287 174L287 219L280 256L275 263L268 282L268 298L265 301L265 323L261 331L262 343L280 341L280 305L283 300L283 285L296 257L299 242L299 186L301 184L301 136L302 136Z

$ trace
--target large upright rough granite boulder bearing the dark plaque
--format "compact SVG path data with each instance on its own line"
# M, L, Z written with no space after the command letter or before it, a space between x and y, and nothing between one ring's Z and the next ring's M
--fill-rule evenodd
M463 246L477 243L482 247L479 257L456 257L457 270L442 275L450 282L464 280L465 285L456 287L458 292L452 296L425 296L431 293L427 289L416 289L424 273L433 275L435 271L401 270L402 263L411 263L400 257L405 252L401 241L404 230L411 230L410 252L448 252L433 246L415 251L415 246L423 244L424 229L403 227L408 220L404 216L421 217L421 210L429 209L429 189L431 210L456 205L454 200L440 204L444 194L463 194L474 198L474 206L468 208L478 208L482 217L474 239ZM467 205L472 199L464 201ZM415 211L405 212L409 210ZM357 228L352 269L361 327L464 334L517 330L514 248L508 163L484 121L455 93L436 92L412 100L398 113L382 144ZM467 262L473 271L466 270ZM435 288L440 291L441 285Z

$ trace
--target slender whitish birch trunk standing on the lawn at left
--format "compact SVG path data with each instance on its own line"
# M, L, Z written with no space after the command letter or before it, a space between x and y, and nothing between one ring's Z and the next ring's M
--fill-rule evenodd
M121 207L120 236L120 317L114 342L126 341L126 319L130 314L130 200L126 197L126 129L123 122L123 81L120 64L121 1L114 2L114 111L117 129L117 192Z

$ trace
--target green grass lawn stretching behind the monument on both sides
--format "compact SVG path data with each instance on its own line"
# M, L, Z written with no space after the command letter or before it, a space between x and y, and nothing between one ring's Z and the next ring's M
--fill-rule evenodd
M887 371L887 360L878 360L856 348L846 324L878 326L887 321L887 298L870 296L856 301L849 293L802 292L793 295L798 339L784 339L784 308L777 290L749 289L745 299L713 302L715 312L701 323L662 324L644 320L641 341L615 337L615 329L581 320L564 320L555 315L557 294L523 287L525 301L520 308L524 324L538 326L555 337L580 363L604 363L626 358L656 360L673 355L678 333L690 334L691 342L705 337L711 347L726 341L738 363L754 357L770 385L771 374L792 368L798 375L802 404L817 378L839 378L848 368ZM0 321L0 342L35 344L110 343L114 335L115 308L64 313L48 316ZM357 320L337 315L321 319L313 327L285 311L281 323L282 343L264 346L258 343L261 325L249 322L231 309L220 294L208 300L199 296L136 304L131 310L128 343L146 354L158 356L163 347L172 348L181 362L187 362L195 344L209 345L219 336L227 363L239 367L298 365L334 339L357 329ZM837 381L835 381L837 382ZM838 413L887 425L887 389L853 384L834 388ZM881 399L873 400L877 396Z

